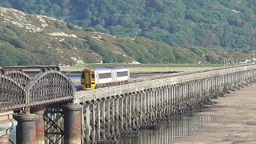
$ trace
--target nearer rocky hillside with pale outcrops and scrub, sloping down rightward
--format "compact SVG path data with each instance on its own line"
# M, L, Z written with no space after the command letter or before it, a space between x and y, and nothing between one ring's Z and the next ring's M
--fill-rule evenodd
M169 46L147 38L82 30L55 18L0 7L0 66L74 65L88 62L222 63L251 54Z

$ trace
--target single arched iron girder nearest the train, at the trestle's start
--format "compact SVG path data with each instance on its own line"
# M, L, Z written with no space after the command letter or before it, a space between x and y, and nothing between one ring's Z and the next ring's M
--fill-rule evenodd
M58 70L37 74L25 87L29 106L71 101L74 98L74 84Z

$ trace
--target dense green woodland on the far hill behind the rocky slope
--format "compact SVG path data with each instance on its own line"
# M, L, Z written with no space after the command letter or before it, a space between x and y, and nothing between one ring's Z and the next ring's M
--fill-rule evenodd
M85 30L170 45L256 47L254 0L1 0L0 6L60 18Z

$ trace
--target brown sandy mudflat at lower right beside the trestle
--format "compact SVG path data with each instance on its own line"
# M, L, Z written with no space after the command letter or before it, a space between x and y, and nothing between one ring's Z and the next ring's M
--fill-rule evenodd
M217 120L202 125L202 129L174 143L256 143L256 84L212 101L217 103L198 114L212 115Z

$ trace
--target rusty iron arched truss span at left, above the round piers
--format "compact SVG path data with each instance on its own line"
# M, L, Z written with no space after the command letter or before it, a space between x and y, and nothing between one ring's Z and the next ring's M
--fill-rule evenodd
M31 78L23 70L39 70ZM74 84L58 66L15 66L0 68L0 108L29 110L54 102L71 102Z

